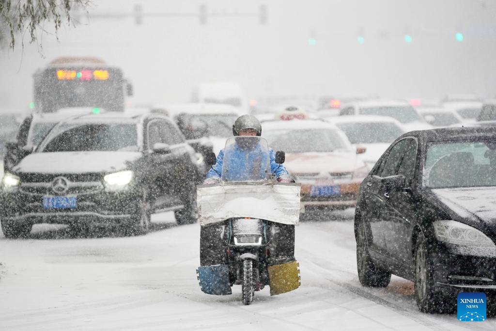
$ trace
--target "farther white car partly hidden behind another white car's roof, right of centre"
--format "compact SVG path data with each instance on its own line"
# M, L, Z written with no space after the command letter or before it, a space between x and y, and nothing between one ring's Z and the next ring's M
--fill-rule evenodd
M389 116L399 121L406 131L432 129L432 126L424 121L415 108L405 100L358 101L343 105L339 115Z

